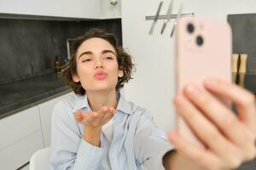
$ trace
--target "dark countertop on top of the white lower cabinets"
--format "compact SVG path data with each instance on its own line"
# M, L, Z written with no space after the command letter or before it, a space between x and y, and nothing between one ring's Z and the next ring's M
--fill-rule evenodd
M57 73L0 85L0 119L68 92Z

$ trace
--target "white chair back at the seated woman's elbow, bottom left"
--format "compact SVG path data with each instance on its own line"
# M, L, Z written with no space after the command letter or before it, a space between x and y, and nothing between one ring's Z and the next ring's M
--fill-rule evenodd
M50 147L36 151L29 162L30 170L49 170Z

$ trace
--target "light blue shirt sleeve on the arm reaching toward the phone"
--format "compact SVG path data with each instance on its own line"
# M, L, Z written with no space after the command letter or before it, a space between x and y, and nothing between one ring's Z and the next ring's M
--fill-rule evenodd
M173 150L166 133L156 126L149 111L143 110L137 121L135 133L135 153L139 164L148 170L165 169L163 156Z

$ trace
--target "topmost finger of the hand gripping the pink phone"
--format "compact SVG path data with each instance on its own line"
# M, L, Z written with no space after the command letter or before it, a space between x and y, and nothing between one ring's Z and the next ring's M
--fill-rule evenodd
M253 94L230 82L223 82L212 78L207 79L205 87L213 94L231 99L236 105L241 121L256 133L256 106Z

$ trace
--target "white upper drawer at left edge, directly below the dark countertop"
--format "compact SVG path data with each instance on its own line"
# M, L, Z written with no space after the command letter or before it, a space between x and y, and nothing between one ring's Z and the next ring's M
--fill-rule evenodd
M0 151L40 129L38 106L0 119Z

